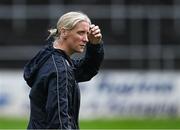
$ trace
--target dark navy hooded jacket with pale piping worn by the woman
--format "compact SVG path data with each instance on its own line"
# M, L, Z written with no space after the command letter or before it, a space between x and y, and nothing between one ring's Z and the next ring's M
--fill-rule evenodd
M78 82L98 73L103 44L87 44L84 58L72 60L52 44L43 48L24 68L31 91L28 129L79 129Z

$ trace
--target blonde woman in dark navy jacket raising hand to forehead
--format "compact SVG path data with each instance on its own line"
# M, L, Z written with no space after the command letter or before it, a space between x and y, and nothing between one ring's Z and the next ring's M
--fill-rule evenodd
M68 12L49 32L54 40L24 67L31 87L28 129L79 129L78 82L98 73L104 57L101 30L86 14ZM85 47L84 58L70 58Z

